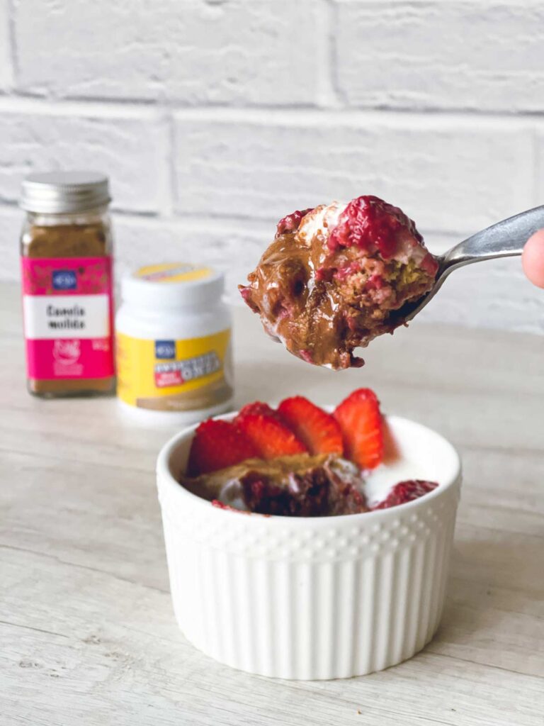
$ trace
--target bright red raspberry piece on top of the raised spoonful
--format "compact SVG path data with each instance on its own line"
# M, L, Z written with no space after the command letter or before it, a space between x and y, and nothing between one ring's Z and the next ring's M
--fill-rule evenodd
M377 247L382 257L389 259L397 252L397 233L401 229L407 229L419 242L423 239L413 221L398 207L379 197L356 197L340 215L328 245L331 252L339 247L372 252Z

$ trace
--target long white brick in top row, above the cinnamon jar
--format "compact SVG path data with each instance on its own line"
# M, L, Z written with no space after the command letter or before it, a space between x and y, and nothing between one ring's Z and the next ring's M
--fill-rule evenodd
M22 91L59 97L307 104L315 0L22 0ZM51 38L62 38L51 54ZM294 42L296 39L296 42Z

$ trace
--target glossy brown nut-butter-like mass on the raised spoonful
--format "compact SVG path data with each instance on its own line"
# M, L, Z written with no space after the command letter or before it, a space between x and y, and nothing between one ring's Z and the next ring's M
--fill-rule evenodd
M239 289L265 330L292 354L335 370L358 367L363 359L354 356L353 349L403 325L397 309L406 299L423 295L433 280L423 270L414 270L413 282L397 283L395 302L379 306L352 285L354 278L345 283L334 279L338 269L363 256L378 258L377 253L367 255L355 247L330 253L323 240L306 242L296 231L286 232L265 250L247 277L250 284ZM394 259L382 264L388 278L402 267Z

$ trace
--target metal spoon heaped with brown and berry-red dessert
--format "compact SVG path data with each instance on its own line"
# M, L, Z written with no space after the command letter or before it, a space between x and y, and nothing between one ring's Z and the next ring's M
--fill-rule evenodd
M239 289L266 332L290 353L333 370L360 367L355 348L406 325L450 272L521 254L543 226L541 206L434 256L400 208L360 196L281 219L249 284Z

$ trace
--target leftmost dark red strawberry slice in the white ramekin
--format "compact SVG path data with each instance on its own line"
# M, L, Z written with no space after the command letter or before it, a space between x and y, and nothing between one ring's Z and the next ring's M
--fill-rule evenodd
M238 425L210 418L202 421L194 433L187 474L199 476L258 456L259 452Z

